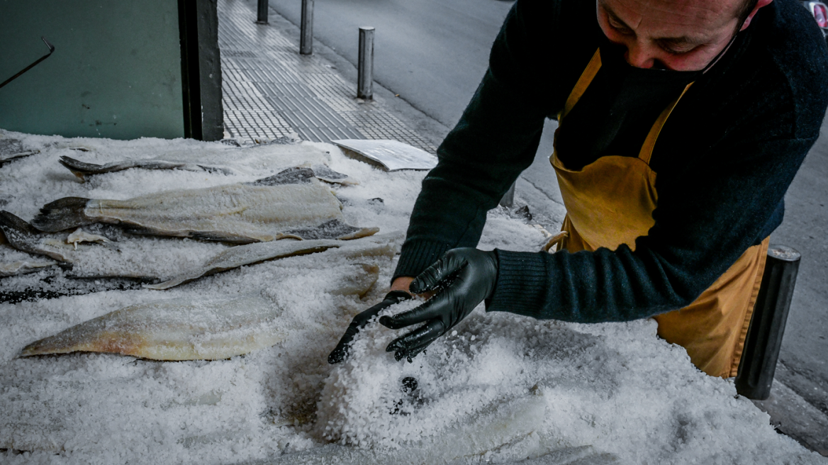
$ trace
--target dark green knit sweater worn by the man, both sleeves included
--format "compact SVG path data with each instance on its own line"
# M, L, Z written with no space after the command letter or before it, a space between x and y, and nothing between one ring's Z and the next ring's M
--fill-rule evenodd
M595 2L515 3L489 70L423 180L395 277L416 276L450 248L477 245L486 212L532 163L544 118L561 110L605 45ZM608 92L613 80L602 72L587 93ZM579 102L591 102L586 113L609 111L587 93ZM646 115L662 108L635 108L631 100L630 114L638 117L622 122L620 136L605 137L600 118L567 118L558 140L564 164L578 169L607 151L637 155L642 128L654 121ZM498 284L487 309L591 323L686 306L782 222L785 191L819 135L826 106L821 32L798 2L775 0L696 80L662 129L651 161L655 226L638 237L635 252L626 245L555 254L498 250ZM604 143L594 143L601 139L596 132ZM565 141L573 148L565 151Z

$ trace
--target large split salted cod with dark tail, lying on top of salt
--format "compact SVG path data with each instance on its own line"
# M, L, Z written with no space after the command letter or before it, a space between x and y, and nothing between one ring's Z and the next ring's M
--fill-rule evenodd
M46 232L124 224L136 234L234 243L353 239L378 231L345 223L339 200L317 181L300 177L288 182L169 190L128 200L66 197L46 204L31 224Z

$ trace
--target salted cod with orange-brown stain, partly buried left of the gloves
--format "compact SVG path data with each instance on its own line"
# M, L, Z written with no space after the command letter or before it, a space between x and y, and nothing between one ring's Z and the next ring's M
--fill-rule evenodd
M376 265L343 266L330 283L333 295L364 295L376 282ZM27 345L22 357L108 352L152 360L219 360L281 343L282 308L267 295L234 299L181 298L137 304L77 324Z

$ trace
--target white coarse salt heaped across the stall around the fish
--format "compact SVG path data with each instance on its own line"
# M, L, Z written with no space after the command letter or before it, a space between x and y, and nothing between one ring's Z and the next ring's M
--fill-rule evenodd
M232 165L233 151L243 149L2 131L0 137L40 151L0 167L0 208L26 221L65 196L128 199L273 174L266 163L248 160L235 174L133 169L80 184L60 166L60 156L108 163L205 151L213 159L226 154ZM335 146L310 145L330 151L330 168L359 181L332 188L349 224L381 233L407 228L425 173L377 170ZM480 247L535 251L542 242L537 228L496 209ZM224 247L147 239L129 246L134 258L124 244L123 260L153 252L158 262L152 266L171 270L182 258L166 252L182 244L199 253ZM95 268L96 255L85 268ZM337 273L360 263L380 270L368 295L328 289ZM0 462L826 463L777 434L768 415L735 395L732 382L696 370L684 349L657 338L650 320L579 325L480 308L413 363L385 352L405 330L374 323L356 338L349 360L330 366L328 353L354 314L383 298L394 266L388 256L348 258L332 250L243 266L166 291L0 304ZM59 272L2 278L0 291L43 278L50 290L60 290L69 280ZM96 285L84 286L79 292ZM28 343L128 305L187 296L219 301L255 290L283 309L279 324L290 337L244 356L214 362L97 353L17 357Z

